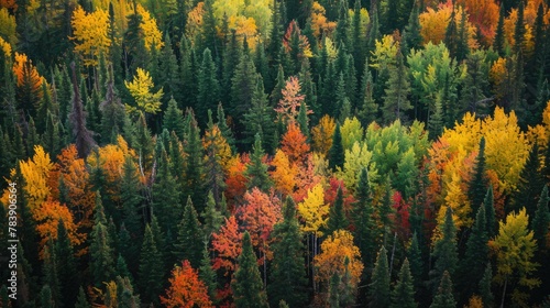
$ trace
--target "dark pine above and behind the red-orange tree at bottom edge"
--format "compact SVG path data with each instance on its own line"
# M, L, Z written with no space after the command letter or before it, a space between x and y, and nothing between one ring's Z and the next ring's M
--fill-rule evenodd
M197 211L190 197L184 209L184 217L178 226L177 242L174 255L177 261L188 260L193 268L200 266L202 260L204 235Z

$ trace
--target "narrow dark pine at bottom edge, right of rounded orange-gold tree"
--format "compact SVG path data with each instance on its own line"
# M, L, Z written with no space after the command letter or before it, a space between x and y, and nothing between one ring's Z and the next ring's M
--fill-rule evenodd
M376 263L374 264L372 283L369 285L369 307L389 307L389 270L387 264L387 253L384 246L378 251Z

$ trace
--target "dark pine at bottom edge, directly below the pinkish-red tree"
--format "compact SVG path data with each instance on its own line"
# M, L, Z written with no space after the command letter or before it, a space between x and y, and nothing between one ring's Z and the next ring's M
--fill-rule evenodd
M243 234L242 252L241 255L239 255L238 264L238 270L231 282L231 289L233 290L237 308L270 307L267 304L267 295L263 289L260 270L257 268L256 255L252 250L252 242L248 231Z

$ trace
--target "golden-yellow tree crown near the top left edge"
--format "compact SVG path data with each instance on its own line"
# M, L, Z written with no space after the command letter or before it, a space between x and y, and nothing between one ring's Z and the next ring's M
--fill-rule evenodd
M80 6L73 12L73 37L77 43L75 52L80 55L84 65L97 66L100 55L107 56L111 46L109 37L109 13L98 9L87 13Z

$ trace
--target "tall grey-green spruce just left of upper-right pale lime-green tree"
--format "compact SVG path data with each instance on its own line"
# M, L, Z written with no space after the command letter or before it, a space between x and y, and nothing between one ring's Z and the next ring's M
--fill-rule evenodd
M386 124L394 120L405 120L405 111L413 109L407 96L410 92L410 84L407 80L407 72L403 55L397 52L396 66L389 69L389 79L386 81L384 106L382 114Z

